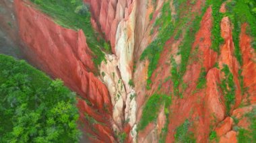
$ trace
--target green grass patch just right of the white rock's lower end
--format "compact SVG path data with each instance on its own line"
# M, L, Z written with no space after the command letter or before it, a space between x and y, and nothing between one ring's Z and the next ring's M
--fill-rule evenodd
M145 107L143 107L141 120L139 122L138 130L143 130L146 126L156 120L161 105L164 105L165 109L170 106L171 97L168 95L154 94L148 99Z

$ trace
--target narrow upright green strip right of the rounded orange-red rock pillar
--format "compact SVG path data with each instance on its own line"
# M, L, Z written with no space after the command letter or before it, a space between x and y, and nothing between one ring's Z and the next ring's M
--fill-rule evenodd
M228 65L224 64L222 68L222 72L225 74L225 78L222 79L220 87L222 88L222 92L225 98L226 104L226 114L230 114L231 105L234 104L235 101L235 84L233 75L230 72Z

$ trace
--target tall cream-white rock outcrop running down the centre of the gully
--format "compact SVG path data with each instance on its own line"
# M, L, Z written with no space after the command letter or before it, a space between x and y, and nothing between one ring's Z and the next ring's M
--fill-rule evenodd
M119 132L125 128L125 122L133 128L137 111L136 93L131 85L136 1L130 6L130 15L123 19L117 28L115 55L107 55L106 63L102 62L100 67L101 77L108 87L113 103L113 129ZM128 134L129 132L130 130ZM136 135L133 136L135 138Z

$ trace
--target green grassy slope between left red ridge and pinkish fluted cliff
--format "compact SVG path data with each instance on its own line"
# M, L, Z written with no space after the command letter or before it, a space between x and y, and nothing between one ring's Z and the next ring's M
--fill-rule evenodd
M94 64L99 65L104 59L102 50L110 50L110 46L104 40L97 40L98 35L94 32L90 22L89 5L82 0L31 0L47 15L53 17L55 22L64 28L74 30L82 29L86 35L89 48L94 53Z

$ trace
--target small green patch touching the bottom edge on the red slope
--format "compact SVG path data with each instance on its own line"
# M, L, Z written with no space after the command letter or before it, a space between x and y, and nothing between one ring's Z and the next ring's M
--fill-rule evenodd
M175 142L184 142L184 143L192 143L195 142L195 138L193 137L193 133L189 132L189 120L185 120L181 126L176 129L176 134L174 134Z

